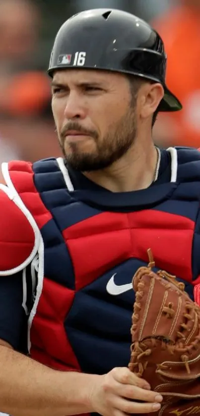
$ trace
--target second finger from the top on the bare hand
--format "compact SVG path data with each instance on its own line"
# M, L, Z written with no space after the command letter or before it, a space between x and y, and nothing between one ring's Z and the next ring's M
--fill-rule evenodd
M116 384L115 393L126 399L141 400L143 402L161 403L163 400L159 393L151 390L144 390L131 384Z

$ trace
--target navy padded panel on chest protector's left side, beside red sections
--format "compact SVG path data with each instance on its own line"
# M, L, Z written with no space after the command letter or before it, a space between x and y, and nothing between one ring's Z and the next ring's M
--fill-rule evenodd
M69 194L56 159L34 163L33 172L35 186L44 205L53 216L40 230L45 248L44 274L49 279L74 289L73 265L63 231L101 211L76 201ZM55 259L57 260L54 261Z

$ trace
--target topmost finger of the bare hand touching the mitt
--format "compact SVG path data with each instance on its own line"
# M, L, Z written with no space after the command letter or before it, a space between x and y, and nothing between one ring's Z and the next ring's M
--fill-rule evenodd
M122 384L132 384L133 386L140 387L142 389L150 390L150 385L143 378L137 377L127 367L116 367L112 370L113 377L116 381Z

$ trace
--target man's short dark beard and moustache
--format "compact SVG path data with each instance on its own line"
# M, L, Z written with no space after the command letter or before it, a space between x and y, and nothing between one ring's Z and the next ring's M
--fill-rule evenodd
M88 133L95 140L96 150L93 153L80 152L78 143L70 143L72 152L67 154L64 144L67 130ZM60 134L60 146L67 166L80 172L97 171L108 168L121 159L133 145L136 132L136 118L130 109L125 116L109 127L109 132L101 141L96 131L83 130L78 122L67 123Z

